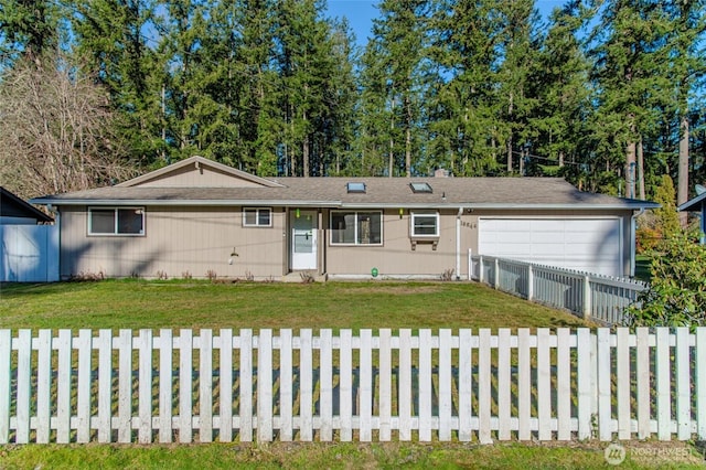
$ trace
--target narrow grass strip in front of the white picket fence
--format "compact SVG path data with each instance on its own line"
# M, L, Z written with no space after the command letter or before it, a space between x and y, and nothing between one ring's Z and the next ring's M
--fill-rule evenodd
M670 442L678 458L644 458L628 448L621 469L703 468L703 456ZM154 446L6 446L2 469L598 469L610 468L606 442L498 444L298 444ZM699 466L699 462L700 466Z

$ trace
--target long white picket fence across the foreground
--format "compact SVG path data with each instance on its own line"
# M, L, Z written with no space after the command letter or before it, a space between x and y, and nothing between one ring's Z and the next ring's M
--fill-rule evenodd
M0 330L0 444L706 438L706 328Z

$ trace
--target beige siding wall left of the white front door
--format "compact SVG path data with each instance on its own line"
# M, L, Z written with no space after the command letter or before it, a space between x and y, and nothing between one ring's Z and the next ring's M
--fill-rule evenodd
M87 236L86 207L62 210L63 277L256 278L282 275L285 214L271 227L243 227L240 207L147 207L145 236ZM231 254L235 250L238 256Z

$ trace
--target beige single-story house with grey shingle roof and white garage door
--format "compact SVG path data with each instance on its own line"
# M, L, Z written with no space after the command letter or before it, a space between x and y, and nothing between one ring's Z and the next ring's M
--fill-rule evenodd
M469 253L611 276L657 205L547 178L260 178L192 157L33 200L60 214L61 275L439 278Z

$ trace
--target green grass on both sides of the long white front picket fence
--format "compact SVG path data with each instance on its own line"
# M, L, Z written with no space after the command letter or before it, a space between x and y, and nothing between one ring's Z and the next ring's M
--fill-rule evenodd
M580 319L467 282L212 284L107 280L0 286L2 329L537 328ZM678 445L677 442L668 442ZM0 446L0 469L606 468L605 442ZM692 446L685 447L695 452ZM698 460L696 460L698 461ZM703 461L703 458L702 458ZM622 468L693 461L628 460Z

